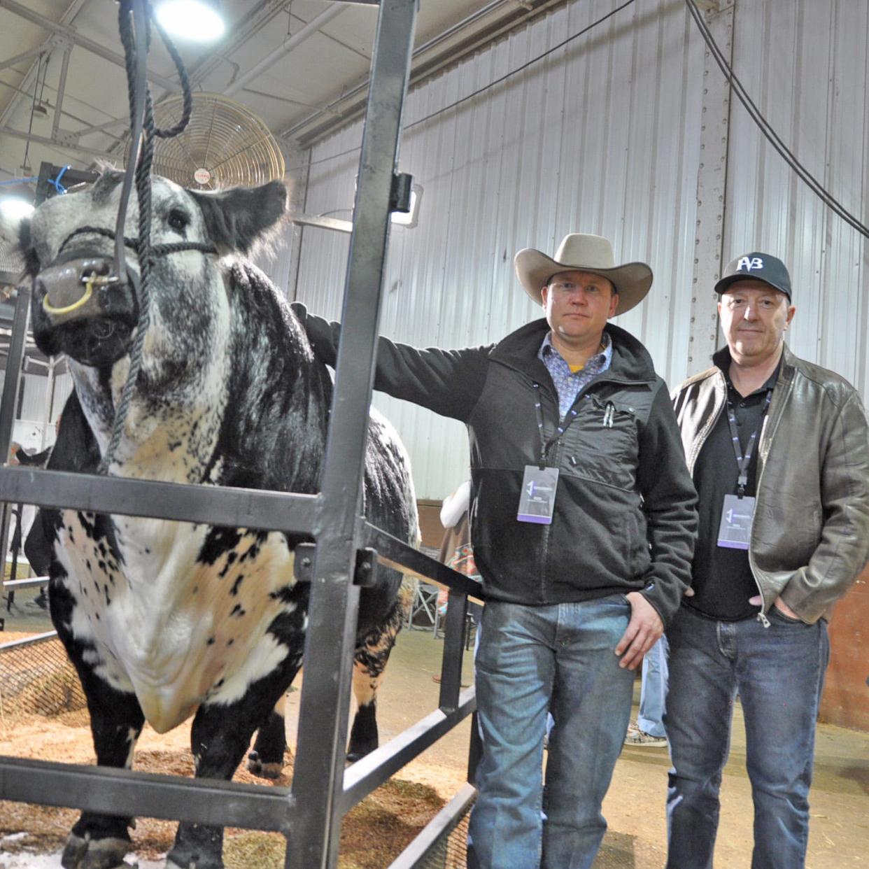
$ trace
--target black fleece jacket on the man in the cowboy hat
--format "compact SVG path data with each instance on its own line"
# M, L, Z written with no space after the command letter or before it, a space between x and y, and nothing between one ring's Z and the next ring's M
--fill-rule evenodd
M315 353L335 365L340 325L292 307ZM488 599L541 605L640 591L666 625L691 581L697 495L667 386L624 329L607 324L612 364L580 391L547 453L559 469L552 524L516 519L524 468L541 451L537 395L547 440L560 422L537 356L548 328L539 320L461 350L381 338L375 389L468 426L471 539Z

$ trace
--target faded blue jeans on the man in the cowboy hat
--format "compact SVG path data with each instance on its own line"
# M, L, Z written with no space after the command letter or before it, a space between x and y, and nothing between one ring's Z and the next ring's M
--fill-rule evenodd
M631 713L634 673L621 669L614 653L630 612L623 594L544 607L494 600L484 607L475 661L483 756L468 869L592 865L607 829L600 804ZM550 706L556 726L544 798Z

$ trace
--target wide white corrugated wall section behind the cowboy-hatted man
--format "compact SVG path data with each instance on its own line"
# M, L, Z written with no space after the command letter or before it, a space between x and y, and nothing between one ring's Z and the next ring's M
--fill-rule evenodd
M614 10L568 3L425 83L409 97L400 168L424 188L421 222L393 229L384 335L417 346L494 342L540 315L513 271L518 249L554 253L571 231L607 235L644 260L652 293L620 318L661 375L686 372L699 163L702 44L684 3L635 3L478 96L441 111ZM690 38L689 38L690 37ZM428 120L434 112L440 112ZM348 217L361 124L312 154L308 214ZM348 237L305 229L297 295L340 315ZM461 424L380 394L408 445L417 494L468 474Z

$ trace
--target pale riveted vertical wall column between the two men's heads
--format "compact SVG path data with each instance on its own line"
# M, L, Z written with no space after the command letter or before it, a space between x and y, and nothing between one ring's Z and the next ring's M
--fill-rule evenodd
M733 57L733 3L710 10L706 23L721 50ZM727 146L730 142L730 83L708 47L703 61L703 128L697 172L697 235L691 287L691 328L688 333L687 374L712 364L718 342L718 306L713 285L721 275L724 210L727 196Z

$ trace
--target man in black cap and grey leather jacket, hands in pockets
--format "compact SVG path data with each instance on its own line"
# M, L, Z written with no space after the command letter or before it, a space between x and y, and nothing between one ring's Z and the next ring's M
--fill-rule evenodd
M700 530L693 594L667 630L667 867L713 866L738 693L753 869L799 869L826 622L869 557L866 414L850 383L787 347L783 262L740 256L715 289L727 346L675 394Z

